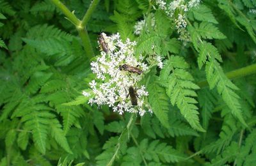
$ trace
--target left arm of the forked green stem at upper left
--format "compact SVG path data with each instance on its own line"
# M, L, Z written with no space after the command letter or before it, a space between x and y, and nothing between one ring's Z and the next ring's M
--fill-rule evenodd
M51 1L57 6L57 8L59 8L64 13L67 19L70 20L70 22L72 22L75 26L78 26L80 24L80 20L77 19L74 13L68 10L68 8L63 3L61 3L61 1L59 0L51 0Z

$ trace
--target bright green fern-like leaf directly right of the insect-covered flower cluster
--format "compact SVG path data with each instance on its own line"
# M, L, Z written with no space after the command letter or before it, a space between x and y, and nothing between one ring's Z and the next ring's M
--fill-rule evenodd
M194 84L193 77L186 72L188 63L182 57L172 56L164 62L164 68L161 71L161 84L166 87L166 93L171 99L172 105L177 105L180 113L193 128L204 132L199 123L198 111L196 107L195 90L199 87Z

